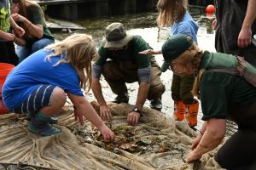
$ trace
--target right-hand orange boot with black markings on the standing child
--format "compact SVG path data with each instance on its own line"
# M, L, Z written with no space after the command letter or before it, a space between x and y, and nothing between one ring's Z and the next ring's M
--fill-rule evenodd
M191 105L186 105L186 119L189 122L189 127L197 125L199 103L197 100Z

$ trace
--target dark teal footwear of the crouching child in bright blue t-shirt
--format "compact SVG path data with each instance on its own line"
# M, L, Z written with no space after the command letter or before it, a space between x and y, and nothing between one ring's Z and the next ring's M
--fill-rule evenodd
M45 116L40 111L38 111L35 117L31 117L31 122L28 123L27 128L32 133L38 133L43 136L50 136L61 133L60 129L55 128L49 124L49 119L49 116Z

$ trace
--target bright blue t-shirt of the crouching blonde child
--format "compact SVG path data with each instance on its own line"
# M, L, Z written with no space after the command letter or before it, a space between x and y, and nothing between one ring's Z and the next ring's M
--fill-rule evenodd
M45 58L50 53L41 49L24 59L9 73L2 89L3 102L9 110L19 106L42 84L58 86L66 92L83 96L77 71L67 63L54 66L61 56L52 57L48 61Z

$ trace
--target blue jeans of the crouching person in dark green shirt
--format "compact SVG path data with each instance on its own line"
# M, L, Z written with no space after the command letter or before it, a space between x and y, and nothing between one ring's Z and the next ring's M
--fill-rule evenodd
M49 39L49 38L42 38L42 39L39 39L37 42L34 42L32 44L31 48L27 48L25 46L17 45L16 54L19 57L19 63L23 59L26 59L26 57L28 57L30 54L35 53L39 49L42 49L42 48L46 47L47 45L49 45L50 43L53 43L53 42L55 42L55 40Z

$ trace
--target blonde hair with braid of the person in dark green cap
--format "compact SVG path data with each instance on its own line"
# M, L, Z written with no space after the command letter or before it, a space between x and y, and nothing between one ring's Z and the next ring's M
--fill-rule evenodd
M201 79L201 76L205 70L198 71L199 65L201 62L201 54L203 51L195 45L195 42L193 42L192 46L183 52L183 54L180 54L176 59L172 60L172 63L179 62L183 65L192 65L194 72L196 73L195 81L193 83L192 88L192 94L196 97L199 96L199 82Z

